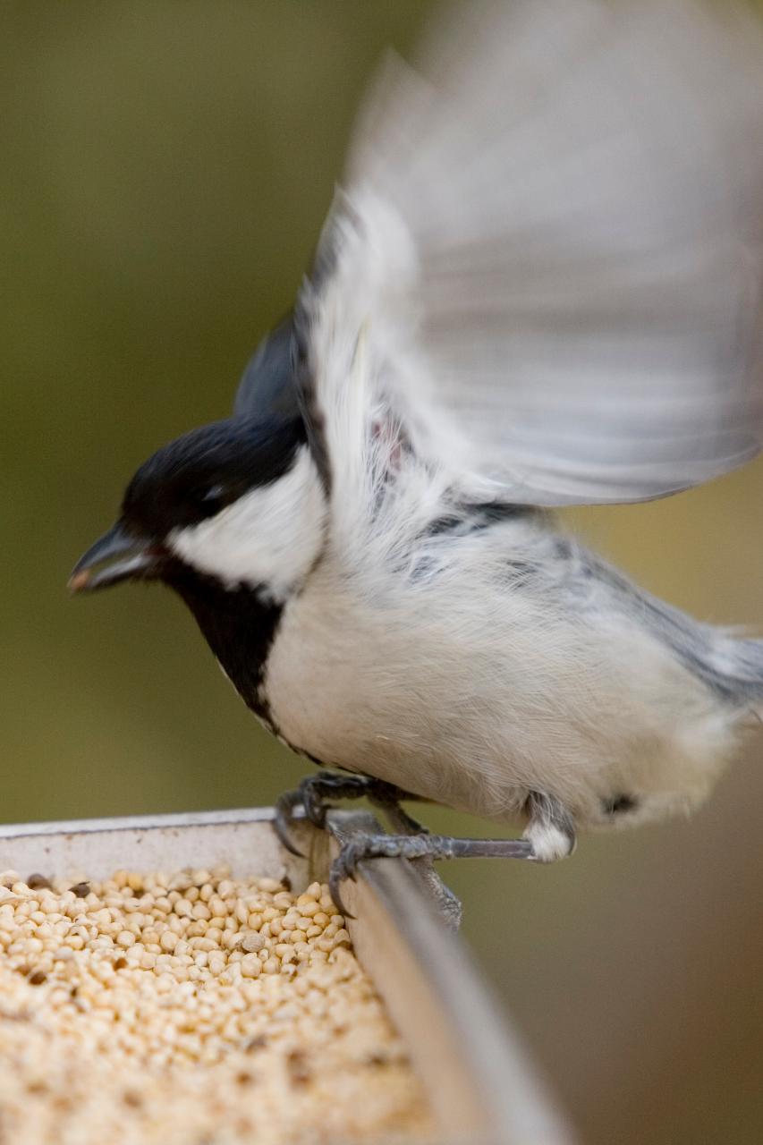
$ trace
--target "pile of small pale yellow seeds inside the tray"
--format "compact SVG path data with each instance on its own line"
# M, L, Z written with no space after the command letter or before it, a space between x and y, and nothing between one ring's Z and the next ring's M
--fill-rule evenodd
M431 1134L327 886L0 874L2 1145Z

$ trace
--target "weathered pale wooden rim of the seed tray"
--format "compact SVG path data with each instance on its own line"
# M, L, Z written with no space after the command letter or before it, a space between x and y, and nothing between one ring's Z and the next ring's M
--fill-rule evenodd
M327 881L337 835L378 829L363 812L331 812L329 820L329 831L296 824L305 858L282 846L270 808L0 826L0 870L105 879L120 868L226 863L234 877L286 877L300 892ZM343 897L355 916L347 919L355 955L423 1083L439 1145L571 1143L520 1040L411 864L363 862L356 881L343 884Z

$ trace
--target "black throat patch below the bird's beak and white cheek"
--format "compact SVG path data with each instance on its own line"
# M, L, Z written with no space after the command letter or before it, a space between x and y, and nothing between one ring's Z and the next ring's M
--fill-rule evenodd
M226 589L180 561L173 561L162 578L190 608L244 703L277 733L261 685L283 605L270 603L243 585Z

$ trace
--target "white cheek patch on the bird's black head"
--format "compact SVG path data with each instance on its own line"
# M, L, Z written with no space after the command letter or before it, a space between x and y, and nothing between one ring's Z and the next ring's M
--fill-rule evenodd
M325 513L320 477L302 448L277 481L252 489L206 521L173 529L167 540L186 563L227 587L244 584L280 600L317 559Z

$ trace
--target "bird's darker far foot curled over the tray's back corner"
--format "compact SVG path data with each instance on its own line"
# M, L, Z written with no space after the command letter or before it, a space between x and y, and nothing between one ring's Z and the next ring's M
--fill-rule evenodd
M273 826L275 832L292 854L301 852L294 846L290 827L294 811L301 807L306 819L315 827L325 827L325 813L330 804L327 799L362 799L367 798L379 807L393 821L395 830L411 831L416 835L426 834L426 829L417 823L400 806L401 799L419 799L394 783L376 780L370 775L321 771L316 775L306 775L300 780L294 791L285 791L276 802Z

